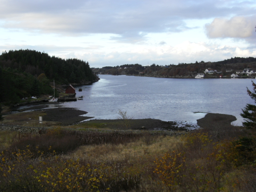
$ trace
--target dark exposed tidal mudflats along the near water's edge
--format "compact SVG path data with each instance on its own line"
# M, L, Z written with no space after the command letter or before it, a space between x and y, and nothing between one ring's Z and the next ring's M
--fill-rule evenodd
M20 112L40 112L44 113L43 121L54 122L59 126L81 126L92 128L102 128L102 129L113 129L113 130L124 130L123 120L113 119L113 120L103 120L103 119L93 119L94 117L81 116L87 114L87 112L79 110L77 108L48 108L46 105L30 105L28 108L19 110ZM17 114L17 113L16 113ZM12 114L7 115L8 118ZM15 118L13 118L12 124L15 124ZM84 121L87 120L87 121ZM210 128L216 129L219 127L234 128L231 122L235 121L236 117L227 114L216 114L216 113L206 113L203 118L197 120L197 125L191 125L186 121L162 121L158 119L130 119L129 129L131 130L166 130L166 131L190 131L198 128ZM27 121L27 120L26 120ZM84 121L84 122L83 122Z

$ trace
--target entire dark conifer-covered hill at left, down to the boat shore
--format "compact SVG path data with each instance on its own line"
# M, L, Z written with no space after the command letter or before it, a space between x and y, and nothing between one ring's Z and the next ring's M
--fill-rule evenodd
M97 76L83 60L64 60L35 50L10 50L0 55L0 103L53 95L53 80L62 85L84 84L96 81Z

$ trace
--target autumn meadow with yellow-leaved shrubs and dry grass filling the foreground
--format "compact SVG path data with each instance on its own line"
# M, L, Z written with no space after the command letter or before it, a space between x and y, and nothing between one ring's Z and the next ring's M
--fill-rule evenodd
M165 136L56 127L13 141L5 132L0 190L255 191L255 132L217 131Z

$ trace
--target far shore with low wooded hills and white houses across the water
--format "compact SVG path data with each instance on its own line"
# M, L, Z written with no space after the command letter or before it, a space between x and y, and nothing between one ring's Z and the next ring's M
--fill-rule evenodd
M234 57L218 62L194 62L178 64L122 64L91 68L94 74L134 75L161 78L255 78L256 58Z

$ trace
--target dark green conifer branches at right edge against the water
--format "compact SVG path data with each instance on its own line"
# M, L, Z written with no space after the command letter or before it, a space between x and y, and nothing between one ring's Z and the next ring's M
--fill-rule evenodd
M255 101L256 103L256 84L252 81L253 92L251 92L247 87L247 94ZM246 107L242 109L242 113L240 114L243 118L245 118L245 122L243 122L243 126L249 129L256 128L256 106L252 104L246 104Z

